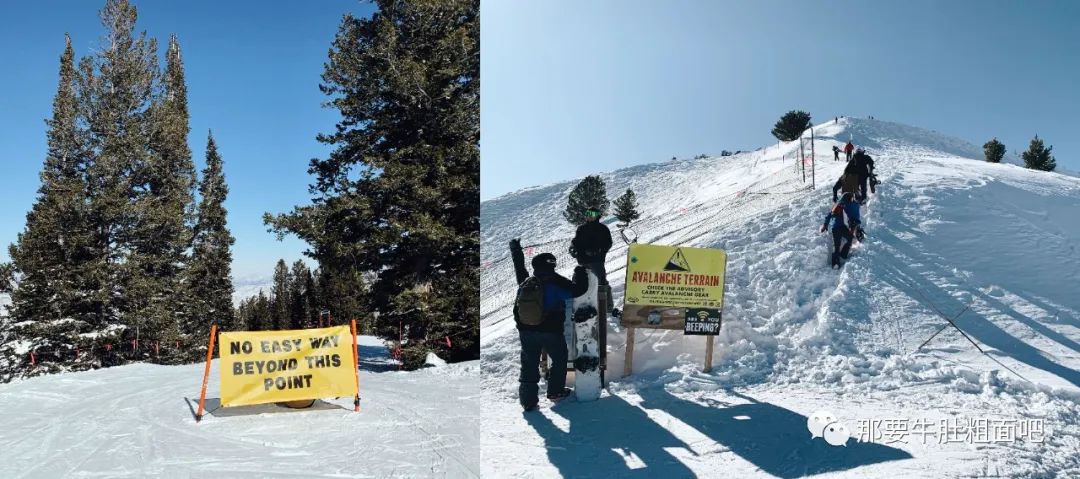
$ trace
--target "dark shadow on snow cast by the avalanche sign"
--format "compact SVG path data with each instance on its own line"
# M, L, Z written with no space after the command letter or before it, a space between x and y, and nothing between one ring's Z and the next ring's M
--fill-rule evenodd
M734 392L746 403L705 406L680 399L663 387L639 391L642 408L662 410L729 448L762 471L781 478L836 473L860 466L912 459L901 449L854 438L831 446L807 430L807 416ZM854 430L855 424L847 424Z

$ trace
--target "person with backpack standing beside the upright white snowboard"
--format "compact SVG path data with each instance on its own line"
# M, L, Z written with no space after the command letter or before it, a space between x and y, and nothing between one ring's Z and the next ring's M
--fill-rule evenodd
M542 352L548 353L554 365L548 374L548 399L557 401L571 393L566 388L565 302L589 290L589 274L584 266L579 265L573 270L573 280L567 279L555 273L555 256L541 252L532 258L532 276L529 276L521 240L510 241L510 256L517 276L514 321L522 341L517 396L522 408L532 411L540 400L537 396Z

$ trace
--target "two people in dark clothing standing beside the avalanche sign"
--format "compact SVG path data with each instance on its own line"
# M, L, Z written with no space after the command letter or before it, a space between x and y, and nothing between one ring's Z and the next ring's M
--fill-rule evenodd
M599 221L599 208L585 210L585 222L578 227L570 242L570 256L578 260L572 278L555 272L555 255L541 252L532 258L532 274L525 268L525 254L521 240L510 241L510 256L517 277L517 298L514 302L514 321L522 343L522 369L517 396L526 411L539 405L540 361L542 353L551 357L548 371L548 399L558 401L570 394L566 387L568 357L563 332L566 301L589 291L589 271L597 283L607 285L604 262L611 249L611 230ZM610 304L610 293L608 297Z

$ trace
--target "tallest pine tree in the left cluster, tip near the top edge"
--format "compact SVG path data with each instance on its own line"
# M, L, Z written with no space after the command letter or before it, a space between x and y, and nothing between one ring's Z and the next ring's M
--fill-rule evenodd
M94 244L87 270L94 329L106 344L131 340L171 340L171 306L162 295L159 252L151 224L162 221L150 193L153 165L151 105L159 72L157 42L134 35L136 11L123 0L108 0L102 10L106 35L103 52L80 63L87 100L92 161L86 170L87 206ZM145 343L144 343L145 344ZM102 348L93 350L98 354ZM127 358L146 358L146 351ZM124 356L103 356L104 366Z

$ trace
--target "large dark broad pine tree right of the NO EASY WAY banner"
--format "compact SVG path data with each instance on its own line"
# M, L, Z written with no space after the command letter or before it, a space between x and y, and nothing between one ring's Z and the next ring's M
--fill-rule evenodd
M375 3L368 18L346 15L323 72L343 119L319 137L336 149L311 162L314 204L267 221L312 246L330 288L378 273L362 300L380 313L375 333L396 337L403 325L407 367L432 350L476 358L480 1ZM450 334L447 351L437 339Z

